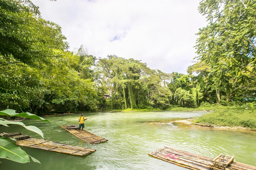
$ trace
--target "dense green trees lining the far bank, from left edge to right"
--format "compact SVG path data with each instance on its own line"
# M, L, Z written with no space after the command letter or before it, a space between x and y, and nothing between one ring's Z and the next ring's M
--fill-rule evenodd
M221 6L221 7L220 7ZM255 1L201 1L197 62L188 74L74 52L30 1L0 1L0 109L54 112L255 104ZM253 103L254 102L254 103ZM247 104L246 104L247 105Z

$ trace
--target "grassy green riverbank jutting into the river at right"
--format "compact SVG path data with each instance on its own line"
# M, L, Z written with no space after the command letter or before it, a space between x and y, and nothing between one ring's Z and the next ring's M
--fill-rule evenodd
M212 125L221 129L256 131L256 113L253 107L209 105L198 108L172 108L171 111L204 111L207 114L191 120L193 123ZM212 112L214 111L214 112Z

